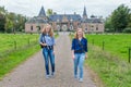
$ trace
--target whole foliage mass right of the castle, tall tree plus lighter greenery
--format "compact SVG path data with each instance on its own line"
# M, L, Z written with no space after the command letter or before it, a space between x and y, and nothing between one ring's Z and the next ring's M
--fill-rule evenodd
M130 9L124 4L119 5L105 21L106 32L124 32L127 27L131 27Z

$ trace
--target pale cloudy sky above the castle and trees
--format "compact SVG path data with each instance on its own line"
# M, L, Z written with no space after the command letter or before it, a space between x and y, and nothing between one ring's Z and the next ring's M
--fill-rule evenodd
M46 11L52 9L58 14L76 12L82 15L85 5L88 16L106 17L121 3L131 8L131 0L0 0L0 5L4 5L9 12L27 16L38 15L41 5Z

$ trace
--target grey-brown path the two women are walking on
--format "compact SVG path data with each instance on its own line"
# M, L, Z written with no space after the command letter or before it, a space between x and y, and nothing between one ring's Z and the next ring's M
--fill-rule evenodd
M1 82L0 87L96 87L87 70L84 70L84 82L73 78L71 41L68 34L60 34L56 46L56 76L45 78L41 51L17 66Z

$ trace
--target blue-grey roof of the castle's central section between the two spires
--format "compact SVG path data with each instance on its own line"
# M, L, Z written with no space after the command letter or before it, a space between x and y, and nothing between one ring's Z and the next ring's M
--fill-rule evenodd
M50 21L57 22L58 20L61 22L63 17L67 17L69 21L81 21L80 14L52 14L49 16Z

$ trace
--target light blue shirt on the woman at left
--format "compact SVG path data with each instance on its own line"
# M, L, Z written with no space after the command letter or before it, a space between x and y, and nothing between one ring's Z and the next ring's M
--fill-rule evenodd
M39 42L46 42L47 46L53 46L55 37L50 37L49 35L40 35Z

